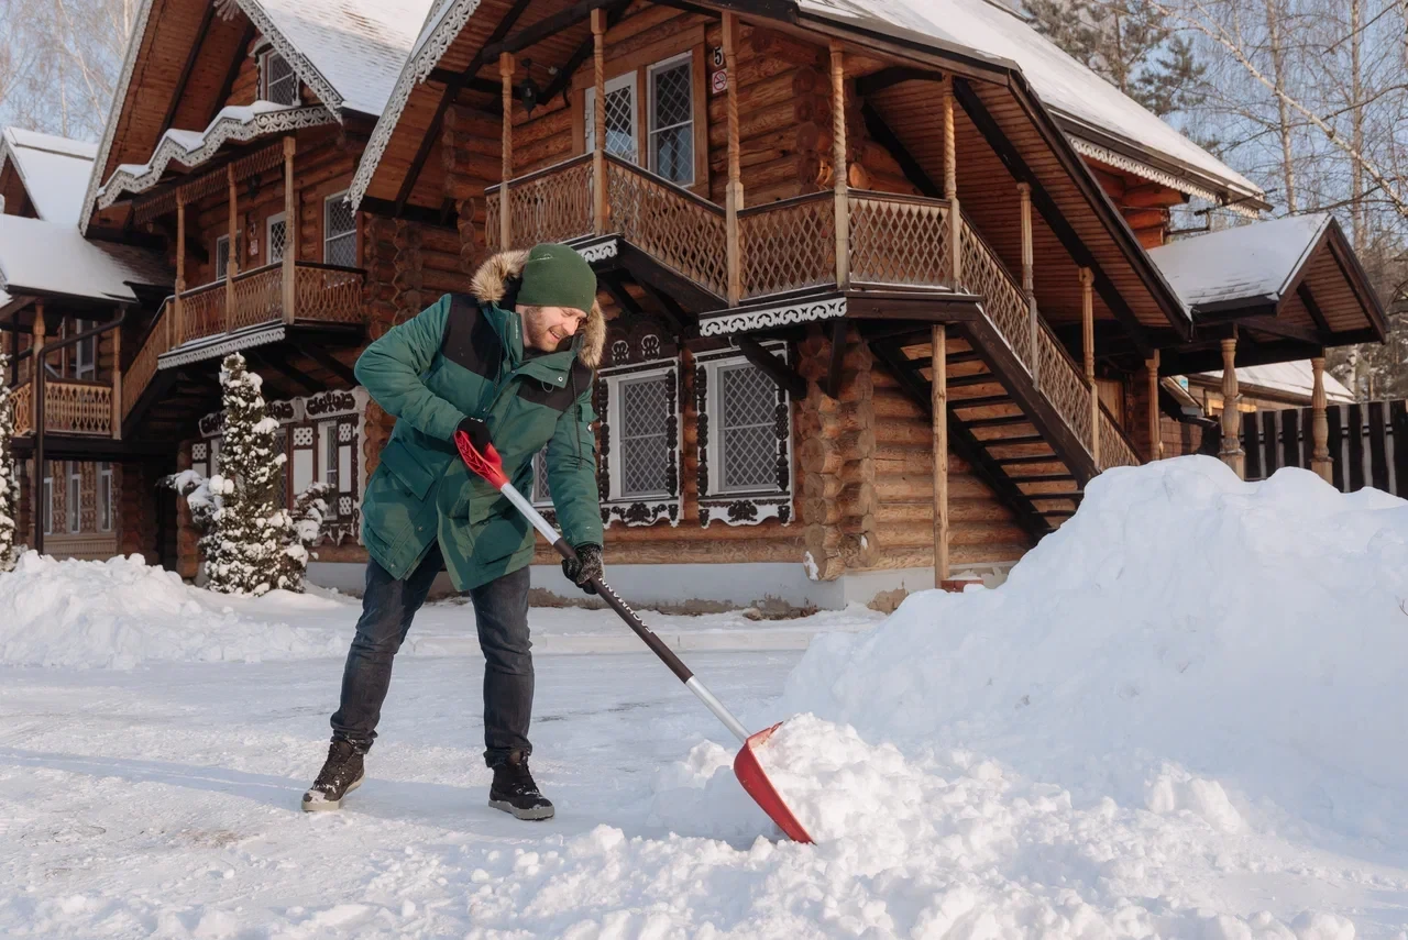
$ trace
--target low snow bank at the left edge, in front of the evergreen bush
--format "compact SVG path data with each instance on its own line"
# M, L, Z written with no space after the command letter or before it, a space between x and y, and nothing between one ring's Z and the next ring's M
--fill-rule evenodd
M258 615L279 604L318 611L344 605L273 591L244 599L187 587L141 556L108 561L55 561L25 553L0 574L0 663L131 668L146 660L259 661L341 656L345 629L294 628Z

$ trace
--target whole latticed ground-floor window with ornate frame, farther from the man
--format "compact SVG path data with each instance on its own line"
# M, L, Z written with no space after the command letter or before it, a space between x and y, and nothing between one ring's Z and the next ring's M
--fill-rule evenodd
M788 359L787 343L763 343ZM793 518L791 398L734 349L694 357L700 525Z

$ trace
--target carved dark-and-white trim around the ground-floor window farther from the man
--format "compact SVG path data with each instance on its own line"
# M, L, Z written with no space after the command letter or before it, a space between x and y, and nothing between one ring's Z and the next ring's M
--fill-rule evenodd
M763 349L788 360L786 342L766 342ZM711 453L710 417L718 409L718 373L722 369L746 364L748 360L735 349L697 353L694 356L694 408L697 414L696 438L698 440L698 507L700 526L711 522L725 525L758 525L765 519L779 519L790 525L793 519L793 467L791 467L791 397L781 387L773 386L773 429L776 439L776 487L750 493L721 493L711 480L718 476L718 455Z

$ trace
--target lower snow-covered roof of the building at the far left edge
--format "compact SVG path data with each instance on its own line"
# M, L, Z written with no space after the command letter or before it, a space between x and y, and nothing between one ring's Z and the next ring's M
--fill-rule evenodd
M0 290L10 294L135 301L128 281L173 280L159 252L89 241L72 222L0 215Z

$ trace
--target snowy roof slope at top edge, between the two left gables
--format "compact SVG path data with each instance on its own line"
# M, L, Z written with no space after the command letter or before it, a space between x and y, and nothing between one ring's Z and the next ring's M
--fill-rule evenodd
M239 0L329 108L379 115L432 0ZM279 42L283 39L284 42ZM318 87L318 79L327 87ZM329 94L331 91L331 94Z

